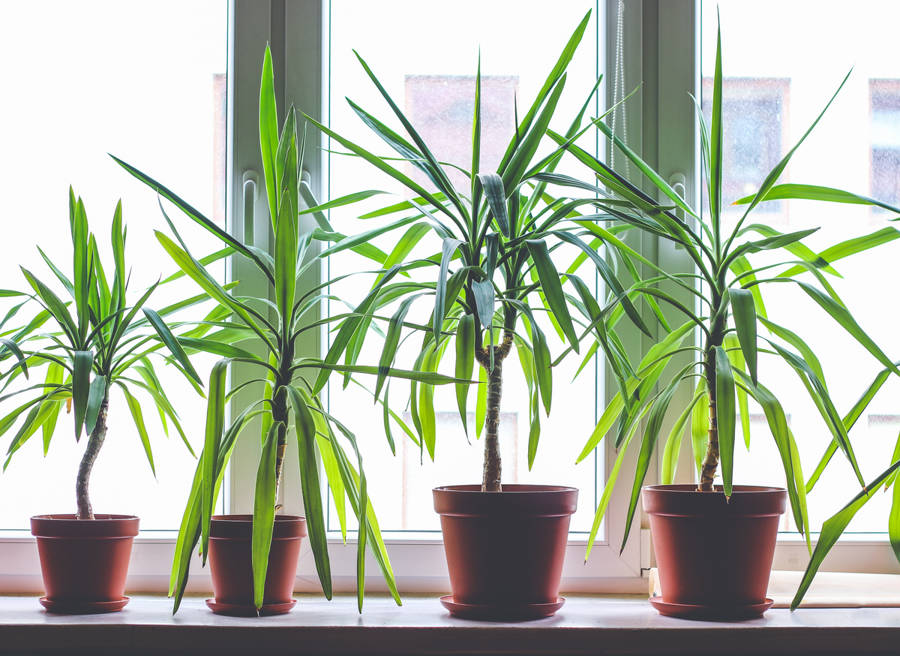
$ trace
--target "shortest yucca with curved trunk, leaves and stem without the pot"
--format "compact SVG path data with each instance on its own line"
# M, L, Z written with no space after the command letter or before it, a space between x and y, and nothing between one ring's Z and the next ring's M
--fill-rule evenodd
M30 397L0 419L0 435L11 430L20 416L25 415L6 451L4 469L13 455L38 430L43 434L46 454L55 434L60 411L63 407L71 407L75 439L79 440L83 432L89 435L76 480L77 517L93 519L90 477L106 439L110 394L114 389L118 388L125 397L154 474L153 452L139 395L146 394L150 397L166 433L167 421L171 421L193 455L175 408L160 384L151 356L167 355L168 360L202 393L200 377L163 317L203 302L207 297L203 294L184 299L157 312L145 306L161 284L157 282L129 304L127 291L130 272L125 263L127 231L122 220L121 201L116 205L112 221L111 279L106 276L97 240L90 232L84 202L80 197L76 198L71 188L69 227L73 254L71 278L40 247L38 251L56 278L56 283L45 283L22 267L22 273L32 291L21 295L28 296L42 309L28 324L6 331L5 336L0 339L0 359L16 359L15 365L4 372L2 390L9 389L19 375L27 377L29 370L34 371L46 365L46 374L41 383L27 385L0 396L0 401L19 395ZM65 294L60 297L52 286L62 286ZM4 318L4 323L15 316L22 306L21 303L13 306ZM139 314L141 311L143 313ZM49 329L45 328L48 322L51 326ZM206 330L207 328L198 326L183 336L199 336Z

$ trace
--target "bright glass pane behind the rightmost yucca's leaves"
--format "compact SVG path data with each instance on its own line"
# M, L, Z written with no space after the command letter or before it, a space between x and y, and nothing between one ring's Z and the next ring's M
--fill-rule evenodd
M755 193L769 170L793 147L837 89L850 80L812 135L797 151L782 182L818 184L900 200L900 61L891 26L900 6L889 1L765 0L703 3L703 106L709 112L715 63L716 7L722 16L725 120L724 202ZM777 16L778 20L772 20ZM760 47L764 40L765 47ZM821 226L806 242L823 248L887 225L892 214L863 206L778 201L757 217L782 232ZM729 206L730 207L730 206ZM729 221L740 216L730 208ZM733 225L733 223L732 223ZM900 242L850 257L835 265L843 278L829 277L854 317L889 355L896 355L900 309L885 302L884 276L892 275ZM756 256L755 262L765 263ZM810 278L811 280L811 278ZM769 317L800 333L820 357L838 411L845 414L872 382L879 365L811 299L792 285L769 286ZM807 478L825 451L830 434L796 374L764 357L760 379L788 413ZM895 379L891 379L850 432L863 475L871 480L889 464L900 429ZM750 408L751 450L737 448L735 480L784 484L775 445L759 407ZM821 526L859 491L840 454L809 498L813 526ZM851 531L887 530L888 495L878 495L859 513ZM784 528L792 528L790 513Z

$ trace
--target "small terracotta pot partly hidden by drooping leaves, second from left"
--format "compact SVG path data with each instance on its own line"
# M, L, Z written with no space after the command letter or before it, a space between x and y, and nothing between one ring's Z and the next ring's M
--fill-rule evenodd
M300 542L306 535L306 520L276 515L266 570L263 607L253 604L253 566L250 538L252 515L213 515L209 526L209 569L215 600L207 600L214 613L222 615L278 615L287 613L294 600L294 578Z

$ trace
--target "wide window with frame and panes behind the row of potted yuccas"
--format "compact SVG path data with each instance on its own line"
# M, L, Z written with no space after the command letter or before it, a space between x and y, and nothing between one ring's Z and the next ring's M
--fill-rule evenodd
M543 0L160 0L152 7L150 3L112 0L59 0L41 3L40 7L7 2L0 6L0 77L5 88L18 90L17 97L27 98L28 102L0 104L0 150L4 153L0 159L0 187L7 192L4 216L15 217L5 223L4 244L6 248L14 244L17 254L21 253L21 259L0 258L0 277L18 281L16 265L20 261L36 268L43 266L34 257L35 234L40 231L41 235L50 235L58 230L58 222L64 221L65 189L69 183L85 197L91 220L95 227L100 226L97 230L101 234L105 234L102 226L111 218L115 199L123 197L130 226L129 255L136 273L142 271L141 275L148 276L146 280L136 279L135 287L150 282L149 276L155 278L160 268L162 273L170 270L152 238L152 229L160 227L155 199L118 170L106 157L107 151L140 162L144 170L157 172L161 179L165 176L173 186L177 184L179 193L208 215L232 230L243 230L244 235L259 235L257 245L265 247L265 201L257 194L256 224L251 226L244 211L252 205L250 199L242 198L242 193L246 191L245 180L261 180L256 103L259 62L267 42L273 46L279 71L276 84L281 109L293 102L370 150L387 152L387 147L365 128L344 101L349 96L396 127L390 110L356 61L352 52L356 49L434 146L439 158L463 166L468 165L470 157L473 74L480 48L482 166L490 168L498 161L514 129L513 100L521 104L533 97L572 27L587 9L593 9L592 23L569 69L555 119L558 127L567 127L597 76L607 72L605 80L609 83L601 85L589 112L596 116L609 106L606 99L613 95L614 69L619 68L613 62L620 59L623 79L619 80L618 90L628 93L643 85L618 119L622 126L627 118L629 145L673 184L683 178L686 192L692 196L696 191L694 167L698 163L694 142L698 135L693 132L694 109L686 91L697 92L708 113L717 4L727 44L725 72L729 76L725 81L729 139L725 144L726 202L757 188L831 96L842 72L855 65L851 82L792 160L785 177L866 192L900 203L900 64L890 49L895 41L891 30L900 18L900 6L888 0L864 3L849 12L846 3L838 0L571 0L552 6ZM53 12L53 21L45 19L48 11ZM620 11L623 38L621 56L617 58ZM773 15L779 20L772 21ZM808 21L810 15L818 17L815 26ZM35 24L41 25L41 47L34 47L34 30L23 29ZM665 28L651 29L653 25ZM27 65L21 63L23 52L29 53ZM320 199L367 188L400 192L389 179L374 173L358 159L340 154L339 148L322 142L313 131L308 136L305 167ZM581 145L601 155L606 150L593 135ZM619 160L617 157L617 164ZM418 175L411 167L408 171ZM578 165L566 164L560 171L584 175ZM451 173L451 177L465 188L461 176ZM418 179L423 184L427 182ZM15 186L10 193L11 184ZM378 207L385 198L370 199L370 207ZM830 244L851 233L874 232L892 217L888 212L852 205L817 205L813 209L803 202L779 201L768 203L765 209L769 212L767 221L785 229L822 225L813 245ZM735 212L729 210L727 216L732 217ZM330 219L341 232L363 228L363 222L346 208L332 210ZM197 244L197 251L218 248L217 243L204 241L201 230L184 224L182 229L192 244ZM51 257L66 261L64 240L49 241ZM421 247L423 252L430 249L429 254L439 250L436 242L427 239L423 239ZM683 264L684 258L666 244L648 239L638 247L663 266ZM835 281L836 289L852 298L854 316L877 342L888 346L889 352L896 341L893 333L900 323L900 309L880 302L880 290L867 286L865 281L879 272L883 275L884 271L892 271L898 260L900 243L884 245L871 256L842 261L838 268L845 278ZM148 263L154 266L141 266ZM335 277L364 268L368 266L355 256L341 255L329 261L322 275ZM259 282L245 280L241 271L226 272L223 267L222 276L226 273L241 279L241 284L252 286ZM332 292L352 305L370 284L371 276L354 276L336 285ZM5 286L11 285L0 284ZM159 300L165 300L163 293ZM878 366L853 343L841 339L830 319L817 307L804 304L797 295L772 294L768 303L770 314L788 326L810 321L821 326L811 346L825 355L823 366L839 410L849 408L860 392L859 381L871 379ZM346 305L332 301L324 311L334 315L346 311ZM427 314L424 306L419 311ZM552 330L546 332L553 335ZM324 331L319 344L304 344L304 348L308 347L311 355L318 353L321 347L327 347L327 340L328 333ZM627 348L637 353L640 337L629 335L626 341ZM841 347L832 348L832 343L840 343ZM377 362L381 350L377 336L366 342L365 349L363 359ZM551 344L554 353L559 349L559 342ZM404 355L401 351L398 361L408 362L407 356L408 352ZM212 360L205 364L208 366ZM527 467L524 381L516 375L507 376L501 420L504 477L508 482L564 482L579 488L579 510L572 518L564 572L566 589L642 591L645 584L640 579L641 567L648 565L649 552L641 545L640 531L632 531L624 555L619 555L618 540L628 494L627 490L621 491L625 487L621 481L616 494L622 496L613 498L591 560L587 565L582 563L585 533L590 529L614 450L606 442L592 459L578 466L573 463L584 437L595 426L604 402L614 390L606 384L604 363L599 360L589 362L586 371L571 382L578 365L577 359L570 358L554 372L553 415L542 422L533 471ZM808 475L828 444L828 433L796 377L773 363L763 362L763 366L765 376L777 382L779 397L790 406L786 408L790 426L801 442L803 467ZM511 362L509 369L515 368ZM232 376L239 380L246 373L235 367ZM180 377L174 376L171 384L182 385ZM851 434L859 445L860 465L867 476L884 468L900 428L900 413L891 403L900 390L896 381L889 385ZM177 389L174 394L193 398L189 388ZM407 389L399 381L392 384L395 407ZM437 484L476 480L482 456L480 442L474 436L470 436L471 443L466 440L452 390L438 391L440 435L435 462L427 456L421 458L419 449L396 427L397 453L391 455L380 407L372 403L367 390L355 384L344 389L340 377L335 375L328 394L331 409L359 438L370 473L370 495L401 590L433 591L444 587L438 518L432 510L430 490ZM196 403L184 403L179 410L196 445L204 403L198 397ZM400 410L403 418L403 408ZM408 419L409 415L405 417ZM147 421L153 424L156 418L148 416ZM470 416L469 424L474 424L474 417ZM738 449L736 478L741 482L780 484L783 474L773 457L774 445L758 408L751 407L750 424L753 449L749 453ZM137 436L130 430L118 432L117 425L127 426L128 422L111 419L110 436L94 475L96 506L98 510L104 506L104 510L136 512L142 518L143 529L158 531L142 536L132 569L146 577L142 578L146 587L164 589L171 553L171 544L166 542L171 533L166 531L177 528L194 461L176 436L155 439L158 480L154 480ZM248 437L252 432L248 431ZM224 495L225 507L232 512L252 508L257 450L258 440L253 439L245 439L237 447ZM686 448L679 468L681 480L687 480L692 469L688 451ZM29 581L35 579L37 558L32 545L15 536L27 536L24 529L31 514L71 506L73 463L80 452L80 445L61 434L44 460L39 440L35 440L0 475L0 531L21 531L11 538L6 532L0 536L4 538L0 539L0 584L13 580L5 577L20 572L32 576ZM655 465L648 482L655 476ZM624 468L633 466L633 462L626 461ZM625 472L622 476L627 477ZM41 485L35 481L54 483ZM810 499L814 524L820 525L851 496L851 481L844 463L832 464ZM288 472L284 494L286 510L300 511L299 485L293 471ZM4 503L11 498L16 499L15 504ZM896 567L884 535L887 504L889 499L884 495L868 504L854 521L851 531L865 533L874 540L878 551L873 552L872 558L867 555L864 560L847 562L848 568ZM791 530L789 522L786 517L785 538ZM329 526L336 529L336 524L332 513ZM342 548L336 531L333 536L336 587L349 590L355 581L355 550ZM24 545L19 551L16 540ZM778 561L779 566L802 568L806 563L805 547L796 552L791 548L789 541L780 547L790 555ZM834 553L840 554L841 548ZM314 590L311 560L304 559L301 568L305 569L301 569L299 585ZM380 581L377 571L370 571L368 585L373 589Z

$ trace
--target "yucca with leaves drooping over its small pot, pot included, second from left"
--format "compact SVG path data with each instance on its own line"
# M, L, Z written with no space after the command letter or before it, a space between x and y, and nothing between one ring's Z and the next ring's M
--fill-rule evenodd
M156 233L157 238L181 270L229 310L228 326L235 332L225 342L210 339L190 342L193 348L224 358L216 363L210 374L203 451L178 534L169 594L175 597L177 611L187 584L191 555L199 543L203 563L207 558L210 562L215 599L208 600L207 604L214 612L232 615L288 612L296 603L292 597L300 539L308 533L322 590L330 599L331 567L319 484L321 462L345 538L345 500L349 501L359 522L357 590L360 610L366 546L399 604L388 554L367 494L356 438L325 410L316 395L317 390L303 376L323 368L362 374L371 373L371 368L323 363L320 358L301 355L296 348L298 339L310 331L320 330L329 321L316 321L310 316L326 293L328 283L310 290L297 285L304 273L319 265L311 248L311 234L304 232L300 220L301 199L312 205L316 202L300 180L303 144L298 138L293 107L287 112L279 137L274 72L268 47L262 67L259 128L268 207L275 236L272 253L244 244L159 182L114 158L126 171L173 203L187 218L221 239L235 257L252 262L260 278L267 281L270 294L246 297L225 290L191 255L163 211L176 239L162 232ZM330 232L327 222L323 225ZM364 246L357 250L370 252ZM259 349L237 346L236 342L242 340L253 340ZM252 401L232 406L233 418L230 425L226 425L226 400L238 391L226 391L226 371L231 362L252 367L263 380L262 384L257 384ZM386 370L384 374L430 384L456 381L441 374L398 369ZM260 417L262 421L263 447L253 514L213 515L235 441L254 417ZM349 444L356 464L348 457L339 437ZM296 440L298 446L305 517L279 514L276 506L289 440Z

